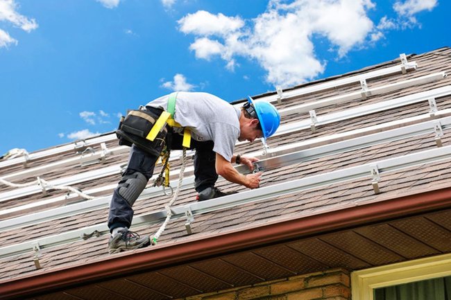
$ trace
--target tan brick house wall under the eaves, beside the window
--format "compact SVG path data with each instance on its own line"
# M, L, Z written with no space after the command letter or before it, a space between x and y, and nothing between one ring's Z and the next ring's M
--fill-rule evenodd
M185 300L350 300L350 274L334 269L266 281Z

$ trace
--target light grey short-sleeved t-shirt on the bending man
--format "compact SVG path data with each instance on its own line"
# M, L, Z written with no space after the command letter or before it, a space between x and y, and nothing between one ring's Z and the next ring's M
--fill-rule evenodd
M146 106L167 109L168 99L169 95L162 96ZM183 127L189 127L192 139L213 141L213 151L231 161L239 137L240 114L239 108L212 94L180 91L173 118Z

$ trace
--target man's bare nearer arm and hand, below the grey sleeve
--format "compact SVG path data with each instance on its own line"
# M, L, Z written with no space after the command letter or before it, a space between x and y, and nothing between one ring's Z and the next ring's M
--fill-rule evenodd
M236 157L233 157L235 161ZM221 175L229 182L234 182L235 184L241 184L247 188L258 188L260 184L260 177L262 173L243 175L239 173L235 168L233 168L230 161L227 161L222 155L216 153L216 173Z

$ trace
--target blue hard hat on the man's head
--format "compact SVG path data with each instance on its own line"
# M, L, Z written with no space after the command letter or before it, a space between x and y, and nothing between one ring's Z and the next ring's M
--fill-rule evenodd
M269 136L273 135L275 130L278 129L280 125L280 114L274 105L269 102L254 102L253 98L248 96L248 103L250 104L249 106L253 107L257 114L258 121L262 127L263 138L266 142L266 138L269 138ZM250 112L250 115L253 115L252 112Z

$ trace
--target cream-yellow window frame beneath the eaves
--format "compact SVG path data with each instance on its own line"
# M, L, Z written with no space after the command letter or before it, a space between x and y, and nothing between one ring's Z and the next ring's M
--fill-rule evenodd
M374 290L451 275L451 254L372 267L351 273L352 300L374 300Z

